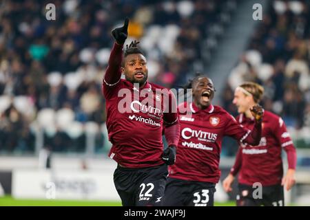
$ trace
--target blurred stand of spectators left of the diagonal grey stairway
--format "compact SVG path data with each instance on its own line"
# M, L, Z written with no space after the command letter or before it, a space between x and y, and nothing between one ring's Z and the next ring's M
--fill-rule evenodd
M45 19L48 3L56 5L55 21ZM1 1L1 153L32 154L43 146L61 153L107 152L107 134L99 128L105 126L101 80L112 28L130 17L130 37L146 52L149 80L176 87L203 71L236 5L234 0Z

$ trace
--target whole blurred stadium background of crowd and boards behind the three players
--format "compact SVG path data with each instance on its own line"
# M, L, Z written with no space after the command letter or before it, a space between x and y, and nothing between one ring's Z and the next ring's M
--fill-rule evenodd
M258 2L262 21L253 18ZM263 107L282 116L298 152L286 199L310 205L310 2L258 2L0 1L0 206L120 205L101 81L110 32L125 17L126 43L141 42L150 82L176 88L203 72L214 80L214 104L233 115L238 84L265 87ZM48 3L55 21L45 17ZM221 179L237 148L223 142ZM216 205L234 205L236 183L231 194L217 187Z

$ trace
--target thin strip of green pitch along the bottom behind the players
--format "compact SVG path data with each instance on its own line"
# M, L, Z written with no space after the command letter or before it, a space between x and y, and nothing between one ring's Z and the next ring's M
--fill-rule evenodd
M0 206L121 206L120 201L87 201L57 199L14 199L0 197ZM234 201L215 203L215 206L235 206Z

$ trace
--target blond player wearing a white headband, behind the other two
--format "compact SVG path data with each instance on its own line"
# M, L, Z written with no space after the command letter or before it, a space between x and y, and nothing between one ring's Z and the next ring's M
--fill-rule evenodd
M260 102L263 93L264 89L257 83L247 82L236 88L233 103L240 113L236 120L242 126L248 129L254 126L249 109ZM287 153L289 166L283 178L282 149ZM285 122L278 115L265 111L260 143L258 146L240 144L236 162L223 181L223 187L230 192L234 176L239 173L237 206L284 206L283 186L289 190L295 183L296 160L296 148ZM262 186L262 193L254 192L257 188L254 184Z

